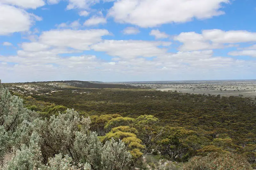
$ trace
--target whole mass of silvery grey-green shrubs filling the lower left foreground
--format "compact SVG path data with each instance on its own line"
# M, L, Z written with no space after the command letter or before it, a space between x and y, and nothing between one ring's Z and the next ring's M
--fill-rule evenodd
M132 156L124 143L103 145L89 130L90 122L74 109L42 120L1 88L0 170L131 169Z

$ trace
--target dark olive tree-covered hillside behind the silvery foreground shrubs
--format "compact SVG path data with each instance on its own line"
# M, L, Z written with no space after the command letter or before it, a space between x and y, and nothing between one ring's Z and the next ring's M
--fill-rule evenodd
M156 147L160 155L154 152L155 156L147 156L149 162L160 158L187 162L194 156L218 152L238 154L256 167L256 104L251 98L79 81L4 86L20 96L25 107L44 118L66 113L67 108L90 116L91 130L98 133L103 143L111 137L118 140L125 136L136 141L138 150L132 152L136 157ZM147 119L141 121L146 124L140 125L140 119ZM153 144L148 144L148 137L153 137Z

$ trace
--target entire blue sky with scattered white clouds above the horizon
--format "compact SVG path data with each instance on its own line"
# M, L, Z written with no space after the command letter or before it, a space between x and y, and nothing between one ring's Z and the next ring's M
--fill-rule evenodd
M255 0L0 0L0 79L256 79L255 18Z

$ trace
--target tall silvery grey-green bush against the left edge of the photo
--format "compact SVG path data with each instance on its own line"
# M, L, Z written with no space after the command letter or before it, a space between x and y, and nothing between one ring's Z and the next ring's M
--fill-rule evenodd
M0 88L0 162L8 149L29 142L29 126L34 120L31 115L36 113L24 108L20 98L11 95L7 88Z

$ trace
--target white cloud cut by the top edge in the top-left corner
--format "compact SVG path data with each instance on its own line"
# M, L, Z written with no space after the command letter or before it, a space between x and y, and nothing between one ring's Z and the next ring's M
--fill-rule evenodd
M0 0L0 3L19 6L21 8L32 8L44 6L43 0Z

